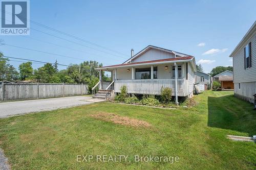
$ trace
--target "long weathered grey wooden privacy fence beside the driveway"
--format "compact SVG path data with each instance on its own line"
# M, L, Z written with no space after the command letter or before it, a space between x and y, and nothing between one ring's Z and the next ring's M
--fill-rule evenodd
M16 99L43 99L59 96L88 94L86 84L2 84L0 87L0 100Z

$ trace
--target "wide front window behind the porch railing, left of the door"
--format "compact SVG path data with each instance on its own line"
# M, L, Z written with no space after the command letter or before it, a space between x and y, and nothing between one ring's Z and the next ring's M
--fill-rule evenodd
M157 67L154 67L154 79L157 79ZM135 79L151 79L151 67L149 68L136 68Z

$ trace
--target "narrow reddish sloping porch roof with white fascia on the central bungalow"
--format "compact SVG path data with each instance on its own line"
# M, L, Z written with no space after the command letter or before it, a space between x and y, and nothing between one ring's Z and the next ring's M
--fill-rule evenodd
M116 64L110 66L103 66L99 68L95 68L98 70L101 69L108 69L108 68L118 68L118 67L127 67L127 66L136 66L136 65L148 65L148 64L164 64L164 63L174 63L174 62L188 62L194 59L193 56L187 57L176 57L176 58L167 58L167 59L160 59L160 60L151 60L151 61L141 61L141 62L134 62L134 63L126 63L126 64Z

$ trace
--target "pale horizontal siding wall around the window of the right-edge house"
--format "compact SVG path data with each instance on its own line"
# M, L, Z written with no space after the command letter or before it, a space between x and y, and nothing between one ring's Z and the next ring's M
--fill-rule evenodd
M256 31L255 31L256 32ZM244 47L233 56L233 82L256 82L256 37L254 33L245 45L251 42L251 67L244 69ZM235 87L236 88L236 87Z

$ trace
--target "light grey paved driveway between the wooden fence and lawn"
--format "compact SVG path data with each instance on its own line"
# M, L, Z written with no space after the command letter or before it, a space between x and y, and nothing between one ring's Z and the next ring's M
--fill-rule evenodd
M49 111L59 108L88 105L95 102L101 102L101 100L92 99L92 97L90 96L72 96L65 98L3 102L0 103L0 117L3 118L16 114Z

